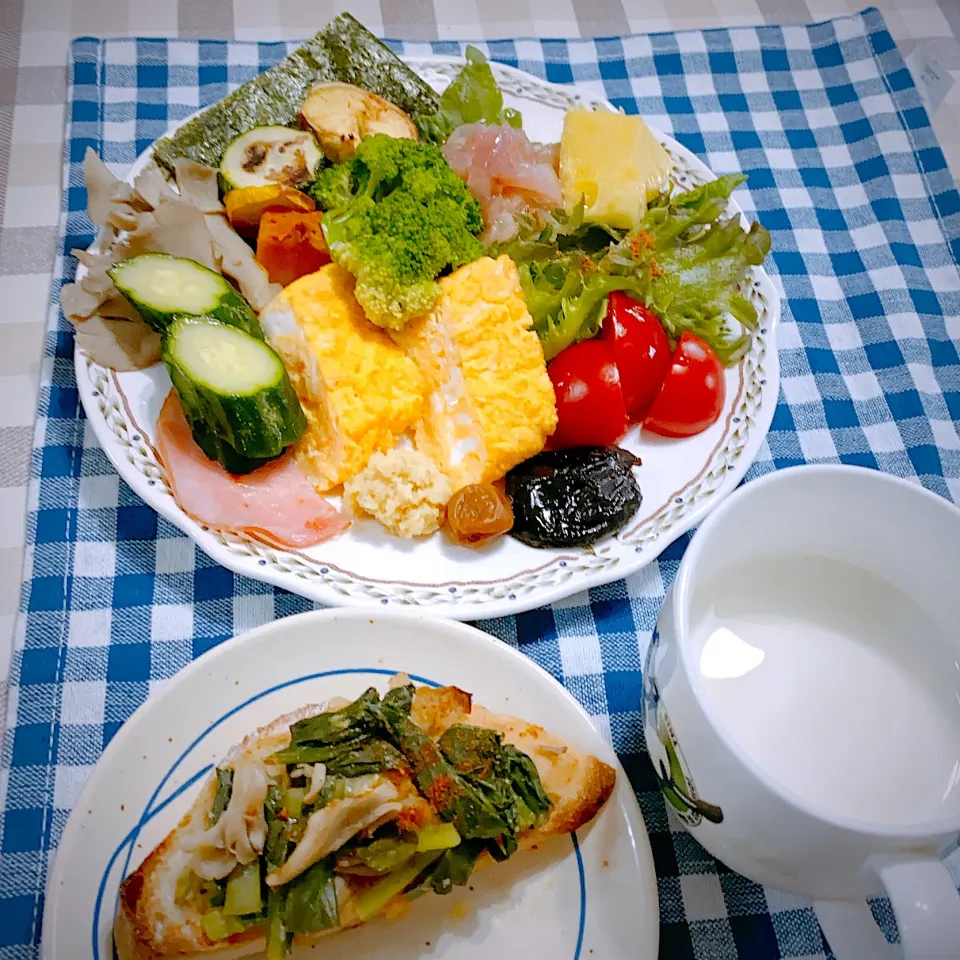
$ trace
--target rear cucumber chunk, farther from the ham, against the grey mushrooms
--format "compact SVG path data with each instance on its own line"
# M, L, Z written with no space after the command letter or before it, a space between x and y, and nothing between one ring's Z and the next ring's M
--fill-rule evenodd
M210 316L263 339L253 308L219 273L195 260L144 253L108 271L114 286L161 336L174 317Z

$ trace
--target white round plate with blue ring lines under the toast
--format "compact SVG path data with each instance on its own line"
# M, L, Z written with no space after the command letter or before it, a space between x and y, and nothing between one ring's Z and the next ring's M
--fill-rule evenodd
M200 657L137 710L67 823L47 889L42 960L111 960L120 881L247 733L306 703L384 689L401 670L542 724L614 765L617 786L578 835L480 872L469 890L423 898L400 920L325 940L325 960L655 960L657 886L643 819L626 774L584 710L532 661L473 627L376 610L267 624Z

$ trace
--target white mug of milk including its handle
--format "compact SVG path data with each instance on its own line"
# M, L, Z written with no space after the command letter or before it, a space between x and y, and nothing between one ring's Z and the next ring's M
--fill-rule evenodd
M849 699L830 695L841 687ZM864 719L879 703L882 729ZM747 483L681 561L643 713L691 833L744 876L810 897L838 960L960 958L960 897L939 856L960 835L960 510L859 467ZM938 734L923 727L905 748L928 721ZM865 902L883 893L900 946Z

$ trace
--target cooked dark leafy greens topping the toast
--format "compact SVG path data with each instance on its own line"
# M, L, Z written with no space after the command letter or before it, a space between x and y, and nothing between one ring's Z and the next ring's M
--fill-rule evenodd
M400 894L449 893L467 882L482 854L506 859L519 835L543 822L551 801L530 757L496 731L468 724L434 740L411 719L414 693L404 685L381 698L371 687L339 710L291 725L289 745L267 758L281 773L267 788L259 858L212 885L189 871L178 884L183 896L201 897L211 940L262 927L268 960L283 960L296 934L339 926L342 872L359 869L374 878L355 903L365 920ZM351 780L391 771L413 780L440 823L413 829L391 820L358 831L293 879L266 882L297 849L310 817L348 799ZM233 786L231 770L220 768L216 776L211 823L229 805Z

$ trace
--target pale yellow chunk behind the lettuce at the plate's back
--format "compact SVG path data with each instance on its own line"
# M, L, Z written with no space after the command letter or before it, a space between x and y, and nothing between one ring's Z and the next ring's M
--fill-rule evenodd
M625 230L635 227L666 184L666 150L638 116L570 110L560 139L560 185L572 210L583 198L585 218Z

